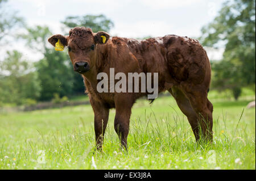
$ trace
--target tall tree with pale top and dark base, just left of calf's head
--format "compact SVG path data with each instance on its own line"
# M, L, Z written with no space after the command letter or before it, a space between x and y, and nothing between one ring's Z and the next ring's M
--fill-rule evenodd
M71 95L73 73L67 53L55 51L47 39L52 33L46 26L27 28L27 33L20 35L27 40L27 45L43 53L43 58L35 64L42 87L39 100L51 100L54 94Z

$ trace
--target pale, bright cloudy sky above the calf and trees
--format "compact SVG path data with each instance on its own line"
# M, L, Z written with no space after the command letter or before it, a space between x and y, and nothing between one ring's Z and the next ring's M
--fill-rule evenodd
M199 37L201 28L210 23L224 0L9 0L10 9L18 11L28 26L47 25L53 34L61 31L61 21L67 16L104 14L114 27L111 36L145 37L175 34ZM29 58L40 58L26 47L18 46ZM208 48L210 59L220 59L223 50ZM36 58L35 58L36 57Z

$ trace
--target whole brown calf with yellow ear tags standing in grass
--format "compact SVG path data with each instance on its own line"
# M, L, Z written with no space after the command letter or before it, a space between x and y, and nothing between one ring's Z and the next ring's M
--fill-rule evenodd
M60 42L68 47L74 70L84 78L94 111L97 148L101 149L109 109L115 108L114 128L121 144L127 148L131 107L147 92L98 92L98 73L158 73L158 90L169 91L180 110L188 117L196 140L200 130L212 140L212 103L207 95L210 84L210 62L197 40L176 35L147 40L110 37L106 32L93 33L90 28L76 27L68 36L53 35L53 46Z

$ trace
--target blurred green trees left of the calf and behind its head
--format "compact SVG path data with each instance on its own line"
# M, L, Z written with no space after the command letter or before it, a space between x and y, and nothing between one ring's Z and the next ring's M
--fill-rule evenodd
M0 11L3 9L0 1ZM10 21L15 17L16 21ZM10 23L9 23L10 22ZM9 23L6 26L6 23ZM76 26L90 27L94 32L106 31L114 26L104 15L68 16L63 24L63 32ZM0 16L1 32L25 27L25 33L8 34L26 42L26 47L33 52L41 52L43 58L31 63L23 58L22 52L8 50L6 57L0 61L0 106L1 104L35 104L63 96L83 94L85 91L82 77L73 71L67 50L55 51L47 39L52 35L47 26L27 27L24 19L13 15ZM7 39L7 38L5 38ZM6 45L1 41L0 45Z

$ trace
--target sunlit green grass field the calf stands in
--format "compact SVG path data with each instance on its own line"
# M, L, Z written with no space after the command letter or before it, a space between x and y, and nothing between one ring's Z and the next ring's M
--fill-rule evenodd
M103 153L94 152L90 105L0 115L0 169L255 169L254 95L237 102L210 92L214 141L197 145L171 96L138 100L128 152L119 149L110 111ZM244 111L243 111L244 109Z

